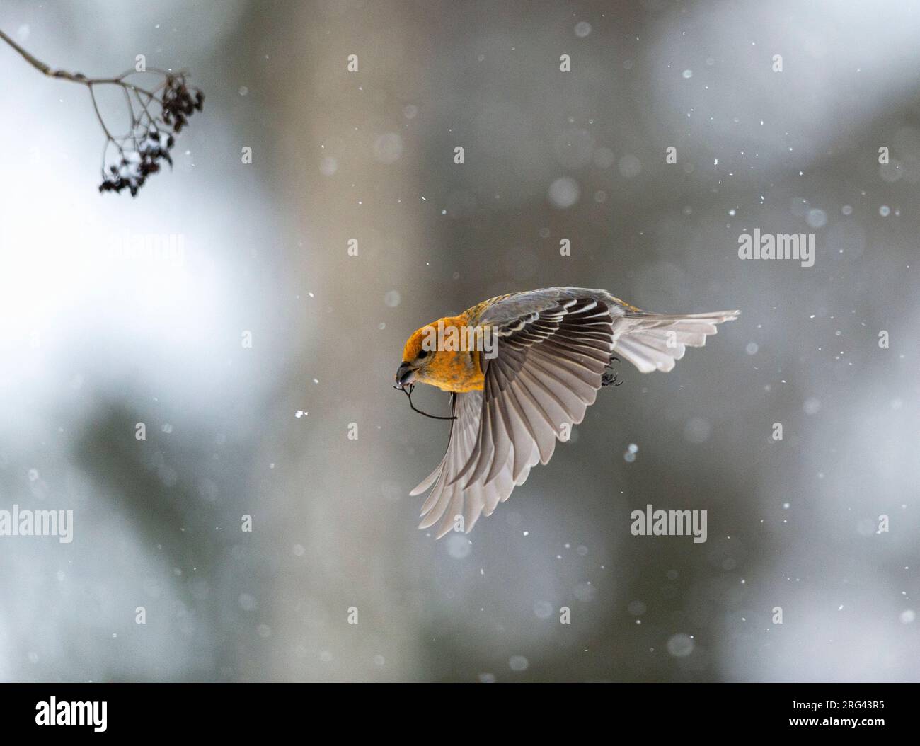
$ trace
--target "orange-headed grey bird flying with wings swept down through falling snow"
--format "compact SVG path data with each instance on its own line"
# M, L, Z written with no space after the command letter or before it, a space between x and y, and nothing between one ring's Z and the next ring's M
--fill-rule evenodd
M615 381L617 356L642 373L670 371L738 314L652 314L604 290L559 287L500 295L416 330L396 387L451 392L453 420L441 463L409 493L431 488L419 528L469 533L491 515Z

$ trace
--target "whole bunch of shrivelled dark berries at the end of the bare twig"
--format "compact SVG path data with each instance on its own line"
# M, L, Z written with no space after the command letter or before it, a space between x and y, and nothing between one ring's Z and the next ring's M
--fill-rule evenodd
M100 192L117 193L128 189L134 197L138 189L144 186L147 177L161 169L162 161L172 167L169 150L176 143L173 135L188 125L195 111L201 111L204 94L197 88L190 89L186 85L185 75L166 75L161 91L160 96L154 96L138 93L135 89L133 92L140 105L140 113L135 116L131 104L132 131L118 140L107 132L109 143L114 143L120 159L116 164L103 167Z

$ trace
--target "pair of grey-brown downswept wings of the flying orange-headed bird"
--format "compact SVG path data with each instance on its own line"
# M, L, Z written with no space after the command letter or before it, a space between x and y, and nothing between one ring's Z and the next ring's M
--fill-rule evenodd
M456 397L447 453L412 490L418 495L434 486L420 528L438 523L439 538L459 515L469 532L523 484L532 466L546 464L601 387L614 347L612 304L591 297L552 304L541 297L532 304L544 307L526 311L518 298L503 323L494 313L483 319L498 331L498 355L483 361L485 388Z

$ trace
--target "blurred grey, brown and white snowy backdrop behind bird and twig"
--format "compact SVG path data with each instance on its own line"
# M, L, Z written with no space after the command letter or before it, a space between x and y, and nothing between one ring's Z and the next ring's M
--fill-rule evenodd
M70 545L0 537L0 679L920 678L920 4L5 0L0 29L207 96L171 174L99 195L86 89L0 44L0 509L75 511ZM740 260L754 228L815 266ZM183 253L109 250L136 235ZM408 490L448 428L391 390L402 344L558 284L742 317L623 367L435 542ZM630 535L649 502L707 543Z

